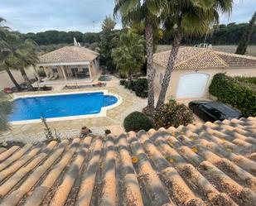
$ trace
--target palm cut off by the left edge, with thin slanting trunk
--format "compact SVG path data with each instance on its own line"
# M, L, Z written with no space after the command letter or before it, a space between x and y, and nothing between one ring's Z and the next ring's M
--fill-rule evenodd
M22 90L21 86L17 84L16 79L14 79L11 71L9 68L5 67L3 64L3 58L7 54L7 42L6 42L6 37L7 37L7 32L9 31L9 27L7 26L2 26L2 23L6 22L5 19L0 17L0 69L4 69L7 71L7 74L9 75L10 79L12 80L12 83L16 86L17 90L20 91Z

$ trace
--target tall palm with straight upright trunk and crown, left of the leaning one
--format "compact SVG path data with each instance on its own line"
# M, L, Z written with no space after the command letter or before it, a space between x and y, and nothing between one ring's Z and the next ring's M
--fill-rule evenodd
M166 0L115 0L114 15L121 14L123 25L129 26L134 22L145 25L147 51L147 114L154 113L154 79L153 67L153 31L159 25L159 15L166 8ZM146 111L146 110L145 110Z

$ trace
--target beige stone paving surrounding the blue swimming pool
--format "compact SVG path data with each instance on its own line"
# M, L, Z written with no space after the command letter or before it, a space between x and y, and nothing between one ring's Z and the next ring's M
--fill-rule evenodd
M119 85L119 79L114 78L107 82L107 86L104 88L90 88L90 89L66 89L61 90L61 93L77 92L77 91L94 91L107 89L109 93L116 93L123 98L123 103L116 108L109 109L107 111L107 117L93 117L86 119L67 120L48 122L49 127L52 130L56 129L56 132L60 132L60 137L63 139L74 138L79 135L81 127L89 127L94 134L103 135L105 129L112 129L112 132L116 134L123 132L123 119L134 111L142 111L142 108L146 107L147 99L138 98L135 93L132 93L128 89L124 89ZM43 93L60 93L60 90L52 90L46 92L30 92L19 93L18 95L27 94L43 94ZM17 94L16 94L17 95ZM30 123L18 126L12 126L11 131L2 134L2 141L23 141L23 142L36 142L44 141L42 123Z

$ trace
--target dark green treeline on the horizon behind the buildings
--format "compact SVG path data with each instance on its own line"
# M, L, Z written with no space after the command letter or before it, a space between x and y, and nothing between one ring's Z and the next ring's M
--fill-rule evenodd
M206 39L207 43L213 45L238 45L241 37L244 34L249 23L229 23L227 25L220 24L214 26ZM134 27L134 26L132 26ZM143 28L143 25L139 25ZM143 29L142 29L143 31ZM89 43L100 41L100 35L102 32L86 32L81 33L80 31L44 31L38 33L27 33L23 34L24 39L32 39L36 41L39 46L46 46L52 44L72 44L73 38L75 37L80 43ZM82 36L81 36L82 35ZM55 37L54 37L55 36ZM174 39L174 33L163 32L162 38L158 40L158 44L171 45ZM198 36L188 36L182 40L182 44L195 45L205 40L205 34ZM256 26L254 26L252 35L249 41L249 45L256 45Z

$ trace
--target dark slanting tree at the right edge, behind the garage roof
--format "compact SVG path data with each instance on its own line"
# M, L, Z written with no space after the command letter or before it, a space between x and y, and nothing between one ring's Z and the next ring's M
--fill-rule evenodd
M249 45L250 38L254 31L255 21L256 21L256 12L254 12L254 16L250 20L247 30L244 31L244 35L242 36L242 39L239 42L239 46L237 47L235 54L238 54L238 55L245 54L247 50L247 46Z

